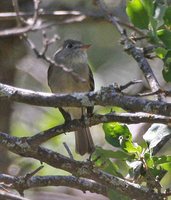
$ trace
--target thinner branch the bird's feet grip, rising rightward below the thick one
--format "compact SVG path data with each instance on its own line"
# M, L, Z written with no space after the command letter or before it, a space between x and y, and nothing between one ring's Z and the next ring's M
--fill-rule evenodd
M47 140L61 135L66 132L71 131L77 131L78 127L81 126L94 126L98 125L100 123L106 123L106 122L121 122L126 124L136 124L136 123L164 123L168 124L171 121L171 117L161 116L161 115L152 115L152 114L146 114L146 113L110 113L106 115L93 115L92 117L87 117L86 121L84 122L82 119L75 119L68 121L65 124L58 125L55 127L52 127L50 129L47 129L45 131L42 131L40 133L37 133L36 135L32 137L25 137L24 140L27 141L27 143L34 145L37 147L38 145L46 142ZM170 135L168 137L171 137ZM168 139L168 138L167 138Z

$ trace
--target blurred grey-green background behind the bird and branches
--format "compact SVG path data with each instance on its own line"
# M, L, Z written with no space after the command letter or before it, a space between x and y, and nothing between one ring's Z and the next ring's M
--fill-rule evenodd
M54 52L60 47L65 39L76 39L87 44L92 44L88 50L89 62L93 70L95 87L98 90L101 86L118 83L125 84L130 80L143 79L137 67L137 63L128 56L120 45L120 36L115 28L105 22L100 16L101 13L93 1L87 0L42 0L41 8L43 11L76 10L89 16L80 22L61 23L63 17L44 16L41 22L53 24L44 29L49 38L57 34L60 39L52 44L47 55L52 58ZM121 20L127 21L125 15L125 0L106 0L108 8ZM32 0L19 0L20 11L33 11ZM1 0L0 12L14 12L11 0ZM0 20L1 30L15 27L15 20ZM34 31L28 34L29 38L41 51L42 31ZM50 92L47 85L48 64L38 59L29 46L19 37L0 38L0 82L27 88L35 91ZM161 76L162 63L159 60L150 61L155 70L159 82L164 85ZM127 90L129 94L135 94L147 87L145 81L142 84L131 87ZM95 112L109 112L111 108L95 108ZM30 106L20 103L10 103L0 100L0 131L15 136L31 136L40 131L46 130L64 122L61 114L55 108L44 108ZM130 129L138 140L137 135L143 131L139 129L142 125L131 125ZM140 131L141 130L141 131ZM104 134L101 125L91 128L94 143L104 148L107 146L104 141ZM55 137L46 142L44 146L67 155L63 146L66 142L70 147L75 159L84 160L88 156L79 157L74 151L74 135L68 133L60 137ZM1 147L0 147L1 148ZM31 169L40 166L40 163L30 158L22 158L11 152L6 152L1 148L0 169L3 173L11 175L24 175ZM66 174L62 170L56 170L50 166L45 167L39 172L40 175ZM34 192L33 192L34 191ZM57 192L58 191L58 192ZM37 195L36 195L37 194ZM106 199L101 195L86 193L65 188L51 187L46 189L35 189L26 191L26 197L31 199Z

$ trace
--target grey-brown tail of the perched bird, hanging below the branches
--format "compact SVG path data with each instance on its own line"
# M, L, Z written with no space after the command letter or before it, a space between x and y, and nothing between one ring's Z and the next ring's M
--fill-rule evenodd
M78 154L92 153L94 143L89 128L80 128L75 132L75 150Z

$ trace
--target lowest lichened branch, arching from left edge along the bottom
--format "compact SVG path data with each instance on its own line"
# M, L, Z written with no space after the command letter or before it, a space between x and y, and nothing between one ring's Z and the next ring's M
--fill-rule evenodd
M75 176L34 176L25 179L25 176L13 177L6 174L0 175L0 182L10 184L10 188L25 191L30 188L47 186L67 186L85 191L95 192L107 196L107 188L95 181Z

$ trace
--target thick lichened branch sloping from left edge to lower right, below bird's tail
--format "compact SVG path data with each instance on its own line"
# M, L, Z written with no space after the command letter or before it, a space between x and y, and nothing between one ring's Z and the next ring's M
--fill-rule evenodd
M31 157L41 162L45 162L55 168L70 172L76 177L92 179L101 185L110 189L117 190L124 195L140 200L158 200L160 194L150 191L138 184L130 183L121 178L112 176L95 168L91 162L80 162L56 153L43 147L34 148L17 137L12 137L6 133L0 133L0 145L12 151L13 153L24 157Z

